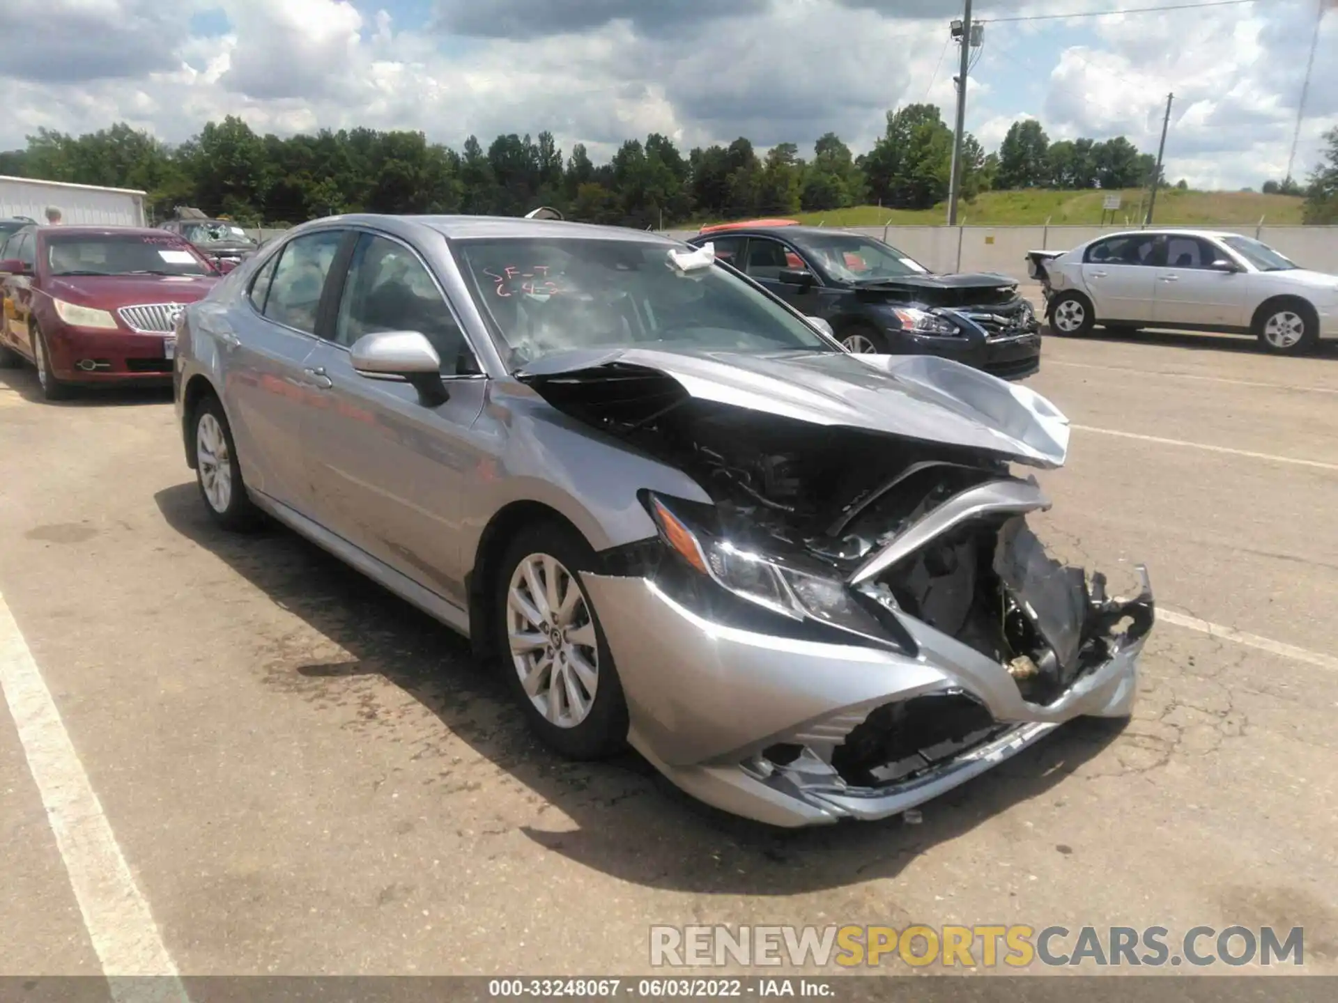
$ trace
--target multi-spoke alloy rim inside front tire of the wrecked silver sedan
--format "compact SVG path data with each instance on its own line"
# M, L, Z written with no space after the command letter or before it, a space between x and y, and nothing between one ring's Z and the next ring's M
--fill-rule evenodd
M511 574L506 629L526 695L546 721L575 728L599 686L599 645L577 578L547 554L526 556Z

